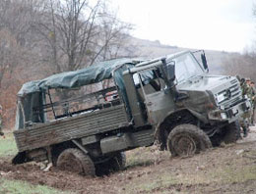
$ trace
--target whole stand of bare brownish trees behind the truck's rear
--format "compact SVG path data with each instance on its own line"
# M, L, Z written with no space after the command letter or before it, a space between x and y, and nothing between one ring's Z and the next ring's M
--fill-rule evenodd
M15 117L22 83L134 55L132 25L103 0L0 1L0 104L5 125Z

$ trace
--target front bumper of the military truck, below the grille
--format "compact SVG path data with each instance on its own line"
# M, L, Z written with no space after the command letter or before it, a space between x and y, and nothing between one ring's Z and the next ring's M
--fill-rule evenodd
M247 113L251 110L251 103L248 99L244 99L244 101L240 102L237 105L229 109L223 110L216 109L208 113L208 118L211 121L236 121L240 116L244 113Z

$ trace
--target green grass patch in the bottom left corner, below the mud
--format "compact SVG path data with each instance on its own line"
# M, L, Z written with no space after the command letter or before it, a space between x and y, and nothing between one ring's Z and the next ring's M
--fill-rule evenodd
M1 178L0 180L0 193L4 194L68 194L68 192L63 192L41 185L32 185L24 181L18 180L7 180Z

